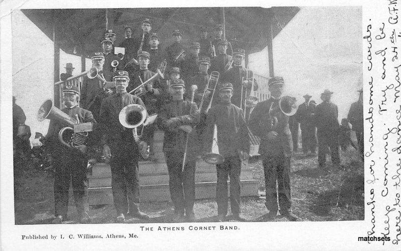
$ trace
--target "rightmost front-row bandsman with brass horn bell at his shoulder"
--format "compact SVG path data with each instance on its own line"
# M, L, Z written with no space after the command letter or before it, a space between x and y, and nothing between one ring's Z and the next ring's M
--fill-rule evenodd
M298 217L291 212L290 165L293 143L288 124L289 117L282 112L270 114L270 108L278 110L279 101L284 90L282 77L273 77L268 81L271 98L259 102L251 113L249 128L261 138L259 154L265 172L266 208L268 214L263 220L270 220L280 214L295 221ZM272 127L272 116L277 117L277 125ZM276 180L278 191L276 190ZM277 193L279 195L277 204Z

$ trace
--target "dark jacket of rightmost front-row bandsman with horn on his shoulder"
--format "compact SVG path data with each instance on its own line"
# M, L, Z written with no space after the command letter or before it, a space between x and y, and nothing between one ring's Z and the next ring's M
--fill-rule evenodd
M272 105L273 103L273 105ZM293 143L290 127L288 124L289 117L282 112L277 112L277 127L269 129L269 108L278 106L279 100L274 98L259 102L251 113L249 119L249 128L251 132L261 138L259 153L267 156L290 156L293 151ZM276 109L277 110L277 109ZM271 131L278 133L276 139L267 139L267 134Z

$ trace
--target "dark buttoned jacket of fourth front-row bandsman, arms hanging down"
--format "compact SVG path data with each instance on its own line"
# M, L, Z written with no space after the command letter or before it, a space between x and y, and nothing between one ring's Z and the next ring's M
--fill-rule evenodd
M208 127L204 151L212 148L213 131L217 124L219 153L225 157L237 155L237 150L249 152L248 126L244 111L231 102L219 102L212 106L207 116Z

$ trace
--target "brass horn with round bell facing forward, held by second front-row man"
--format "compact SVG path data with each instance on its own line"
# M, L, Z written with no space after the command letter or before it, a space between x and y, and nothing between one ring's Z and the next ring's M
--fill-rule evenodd
M132 135L140 149L140 154L143 159L147 159L149 157L149 146L145 142L139 140L137 133L137 128L147 119L145 107L139 104L129 104L121 109L118 119L123 127L132 129Z

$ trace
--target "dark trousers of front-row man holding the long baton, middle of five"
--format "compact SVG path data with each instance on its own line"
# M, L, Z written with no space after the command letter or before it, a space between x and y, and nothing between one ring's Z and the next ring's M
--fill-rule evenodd
M182 172L183 152L166 151L164 153L171 201L174 212L186 215L193 213L195 202L195 159L192 155L186 156L184 171Z

